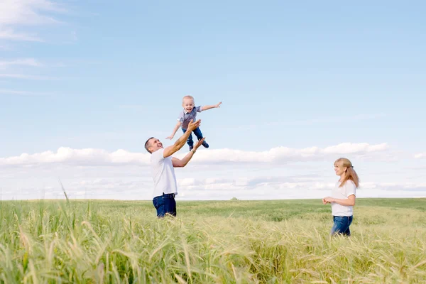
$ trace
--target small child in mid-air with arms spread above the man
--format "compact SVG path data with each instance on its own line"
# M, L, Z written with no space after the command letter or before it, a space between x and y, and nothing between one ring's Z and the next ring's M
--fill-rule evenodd
M178 131L179 127L182 128L182 131L185 133L187 130L188 124L190 121L194 120L196 121L197 118L197 112L201 111L207 111L207 109L214 109L219 107L222 104L222 102L219 102L219 104L215 104L213 106L200 106L195 107L194 98L192 96L185 96L182 99L182 107L183 110L180 112L178 124L176 124L175 128L173 129L173 134L166 137L166 139L173 139L175 136L176 131ZM197 127L194 131L195 136L197 136L198 140L202 139L202 133L200 130L200 127ZM194 141L192 140L192 133L190 134L190 137L187 140L187 144L190 146L190 151L192 148L194 148ZM202 143L202 146L205 148L209 148L209 144L207 144L206 141Z

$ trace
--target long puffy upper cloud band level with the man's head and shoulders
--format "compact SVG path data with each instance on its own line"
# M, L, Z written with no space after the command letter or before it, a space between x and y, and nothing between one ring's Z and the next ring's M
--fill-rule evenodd
M277 147L268 151L241 151L234 149L211 149L197 152L192 163L232 164L232 163L287 163L294 161L320 160L326 157L339 158L339 155L351 155L352 157L364 157L368 153L380 153L386 151L386 143L370 145L368 143L342 143L326 148L288 148ZM176 155L182 158L185 154ZM72 165L114 165L133 164L148 165L149 153L132 153L118 150L112 153L102 149L85 148L72 149L61 147L55 153L45 151L43 153L28 154L0 158L0 165L43 165L50 163L65 163Z

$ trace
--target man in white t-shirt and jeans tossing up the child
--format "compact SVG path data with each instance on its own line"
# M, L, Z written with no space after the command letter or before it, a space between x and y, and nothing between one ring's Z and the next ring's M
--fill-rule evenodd
M182 148L192 131L200 126L201 120L193 120L188 124L185 133L172 145L163 148L157 138L151 137L145 143L146 151L151 153L151 173L154 180L153 204L157 209L157 217L164 217L165 214L176 216L175 195L178 195L178 185L176 184L175 168L182 168L191 160L195 151L202 145L204 138L195 144L194 148L179 160L172 155Z

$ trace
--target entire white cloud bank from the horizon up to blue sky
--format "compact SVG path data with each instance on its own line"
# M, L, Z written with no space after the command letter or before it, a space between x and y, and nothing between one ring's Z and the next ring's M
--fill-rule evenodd
M232 197L241 200L320 199L329 195L339 178L334 175L330 164L330 160L340 155L334 153L353 152L354 149L358 152L352 153L351 157L359 165L357 173L361 178L357 197L426 196L426 183L421 175L410 177L411 171L401 171L400 163L386 163L377 159L366 163L362 158L363 152L380 153L382 148L354 144L353 148L319 148L314 151L315 155L308 158L300 155L303 149L293 149L298 153L298 159L294 159L295 163L281 165L267 158L268 155L264 160L253 163L253 159L248 159L238 165L232 161L234 157L229 156L228 160L216 165L214 155L204 158L198 155L211 151L202 149L196 154L199 159L197 163L176 169L178 200L229 200ZM271 153L271 150L265 152ZM247 155L248 152L239 153ZM294 157L294 153L292 155ZM322 158L317 158L318 155ZM148 166L150 157L149 153L124 150L59 148L55 152L0 158L2 197L4 200L63 198L58 182L60 178L71 198L151 200L153 180ZM285 159L285 156L281 158ZM378 175L378 169L388 170L389 174ZM395 171L400 175L393 174Z

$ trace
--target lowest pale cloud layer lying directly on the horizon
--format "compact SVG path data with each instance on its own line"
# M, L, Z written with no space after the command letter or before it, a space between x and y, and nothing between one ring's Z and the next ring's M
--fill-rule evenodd
M269 180L283 179L271 184ZM62 180L62 179L61 179ZM263 181L262 181L263 180ZM115 200L151 200L153 182L143 178L93 178L62 180L68 197ZM258 178L251 186L239 183L239 178L228 180L178 179L177 200L285 200L320 199L331 193L334 182L285 182L282 177ZM356 197L426 197L426 184L365 182L356 192ZM43 182L29 181L25 185L3 186L3 200L60 198L64 195L55 178Z

